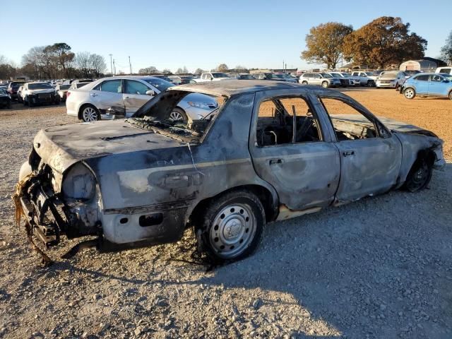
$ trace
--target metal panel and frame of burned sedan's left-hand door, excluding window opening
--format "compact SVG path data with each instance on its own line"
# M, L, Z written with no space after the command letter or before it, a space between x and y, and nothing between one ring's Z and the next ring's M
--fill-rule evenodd
M254 169L261 179L272 185L283 203L291 210L328 206L335 196L340 179L340 157L324 129L323 119L318 123L326 141L286 143L258 146L256 137L257 116L260 103L275 91L256 93L254 119L251 126L249 150ZM289 93L287 93L289 95ZM305 98L306 99L306 98ZM310 100L309 100L310 101ZM316 112L314 102L310 104Z

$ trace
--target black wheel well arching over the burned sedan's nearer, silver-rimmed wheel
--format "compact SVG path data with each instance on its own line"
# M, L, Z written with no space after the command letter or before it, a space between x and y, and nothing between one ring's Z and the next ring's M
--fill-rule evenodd
M222 194L227 194L231 191L239 191L239 190L246 190L251 191L251 193L255 194L259 201L261 201L263 210L266 213L266 222L270 222L275 219L277 215L277 208L278 206L273 206L273 196L263 186L259 185L243 185L243 186L237 186L232 189L227 189L226 191L222 191L221 193L217 194L216 196L212 196L210 198L206 198L198 203L194 210L191 212L190 215L190 221L191 223L198 222L198 218L202 215L202 211L206 208L206 206L210 203L210 201L213 201L213 199L218 198L218 196L221 196Z

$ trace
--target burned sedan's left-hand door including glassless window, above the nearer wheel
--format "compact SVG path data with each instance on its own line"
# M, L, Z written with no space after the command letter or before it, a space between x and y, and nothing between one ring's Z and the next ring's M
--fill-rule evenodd
M256 173L291 210L327 206L339 183L338 150L325 141L308 99L271 94L256 93L249 143Z

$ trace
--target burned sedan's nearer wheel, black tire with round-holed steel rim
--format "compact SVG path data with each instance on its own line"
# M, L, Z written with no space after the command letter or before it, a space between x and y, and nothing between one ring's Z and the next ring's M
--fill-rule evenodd
M195 225L198 248L218 263L246 258L261 242L265 220L261 201L250 191L223 194Z

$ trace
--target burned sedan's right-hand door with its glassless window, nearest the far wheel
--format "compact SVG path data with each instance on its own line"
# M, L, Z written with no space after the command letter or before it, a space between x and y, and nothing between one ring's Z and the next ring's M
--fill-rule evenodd
M402 145L377 119L352 100L319 98L328 113L340 153L338 201L381 194L397 183Z

